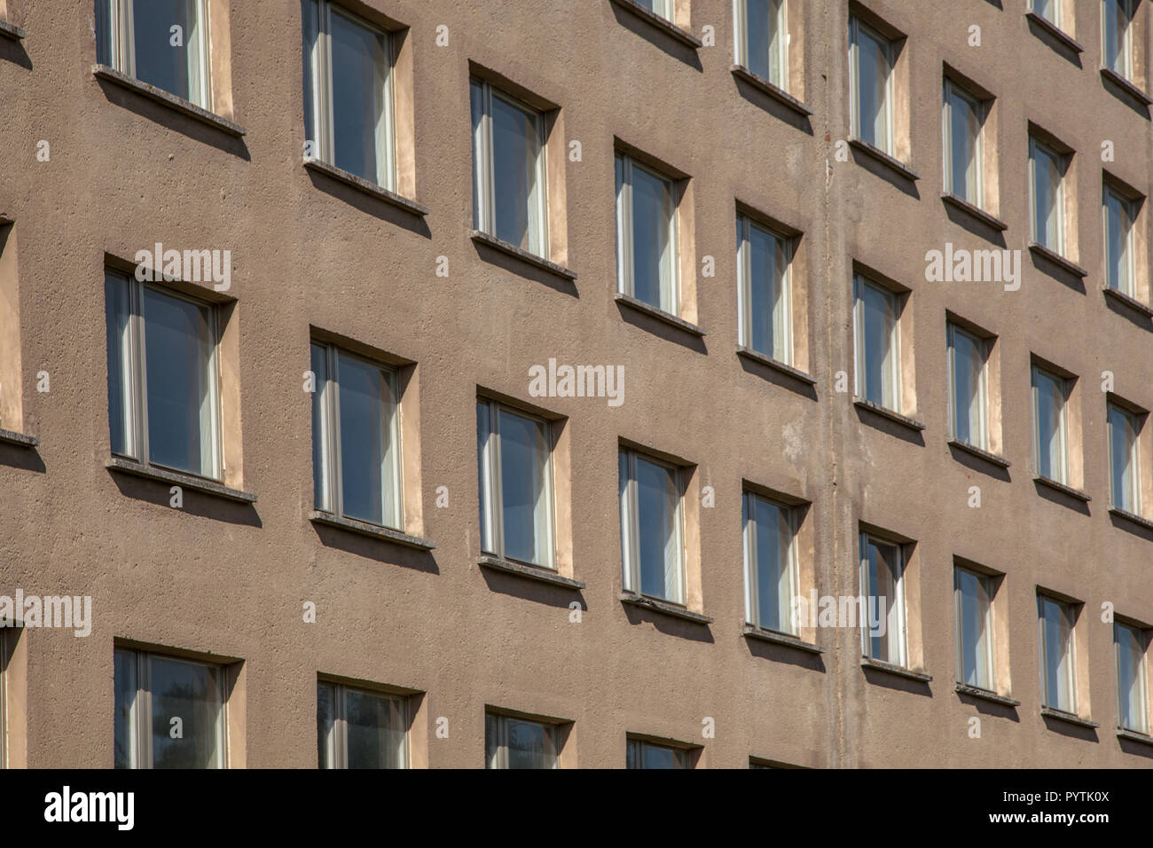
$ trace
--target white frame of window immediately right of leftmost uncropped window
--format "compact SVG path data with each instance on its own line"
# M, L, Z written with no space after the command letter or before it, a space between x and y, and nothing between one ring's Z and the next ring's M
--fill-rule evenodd
M391 461L393 466L393 480L395 483L393 486L394 491L392 493L393 503L395 503L395 525L389 524L385 520L384 524L376 525L382 527L390 527L404 532L405 530L405 481L404 481L404 453L401 452L400 442L400 378L395 368L386 366L377 360L362 357L360 354L353 353L352 351L336 345L331 342L322 342L318 339L312 339L310 342L309 353L311 354L311 346L323 347L325 351L325 370L327 373L327 380L324 381L324 385L319 377L314 375L316 385L315 391L321 392L321 404L323 406L323 426L324 434L322 438L322 458L324 460L324 472L325 472L325 491L323 495L321 493L312 493L312 503L315 508L321 512L327 512L329 515L337 516L339 518L348 518L354 521L362 521L364 524L376 525L375 521L366 521L363 518L355 518L353 516L346 516L344 511L344 479L341 472L341 459L344 445L340 443L340 357L347 357L348 359L355 359L364 365L371 366L379 369L380 374L384 375L389 383L389 393L393 398L391 408L386 408L382 418L386 419L385 435L389 438L389 444L385 446L385 456L383 461ZM387 406L387 404L386 404ZM317 434L312 434L312 438L317 438ZM384 470L382 467L382 474ZM314 470L314 481L315 481L315 470ZM314 482L315 488L315 482ZM319 505L323 503L323 505ZM383 512L383 504L382 504ZM387 519L387 516L382 518Z

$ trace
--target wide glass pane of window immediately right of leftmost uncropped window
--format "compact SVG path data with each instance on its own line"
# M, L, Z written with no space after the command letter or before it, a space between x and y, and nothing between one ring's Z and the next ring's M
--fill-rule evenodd
M340 480L344 513L399 524L391 380L379 366L338 354Z

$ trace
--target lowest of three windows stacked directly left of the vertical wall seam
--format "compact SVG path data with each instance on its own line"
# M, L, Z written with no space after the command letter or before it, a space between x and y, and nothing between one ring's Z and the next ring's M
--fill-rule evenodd
M796 636L791 614L797 595L793 511L745 493L745 620Z

